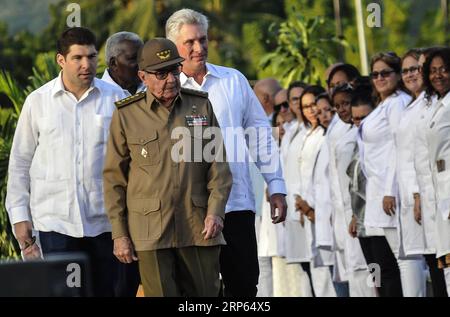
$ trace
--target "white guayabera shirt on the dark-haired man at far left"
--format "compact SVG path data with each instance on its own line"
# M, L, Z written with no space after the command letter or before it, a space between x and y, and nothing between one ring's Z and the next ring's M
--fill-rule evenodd
M72 237L111 231L103 205L103 161L114 102L122 90L94 79L77 100L61 74L32 92L9 161L6 208L12 224Z

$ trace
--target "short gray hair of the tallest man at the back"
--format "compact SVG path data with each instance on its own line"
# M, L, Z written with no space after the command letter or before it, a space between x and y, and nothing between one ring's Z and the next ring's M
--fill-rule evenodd
M173 13L166 22L166 37L176 42L180 29L185 24L200 25L208 33L208 18L192 9L181 9Z

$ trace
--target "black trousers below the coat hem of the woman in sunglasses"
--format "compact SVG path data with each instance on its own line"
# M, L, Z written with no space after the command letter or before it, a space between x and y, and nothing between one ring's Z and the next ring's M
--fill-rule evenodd
M360 238L361 249L367 264L380 266L380 297L403 297L400 269L385 237Z

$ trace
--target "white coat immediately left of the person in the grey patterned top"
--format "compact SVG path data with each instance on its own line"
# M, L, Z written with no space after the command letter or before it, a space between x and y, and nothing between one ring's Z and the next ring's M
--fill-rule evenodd
M350 177L347 175L347 169L355 151L357 133L356 127L347 125L347 132L334 144L334 147L330 145L330 188L334 206L332 223L335 250L344 253L344 267L339 271L345 273L367 268L359 240L351 237L348 233L348 225L353 211L350 197ZM337 263L339 264L340 261Z

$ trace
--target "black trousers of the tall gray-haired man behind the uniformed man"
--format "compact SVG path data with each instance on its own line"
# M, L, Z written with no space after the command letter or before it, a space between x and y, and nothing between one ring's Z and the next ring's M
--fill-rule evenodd
M226 297L256 297L259 264L255 213L234 211L225 215L226 246L220 252L220 273Z

